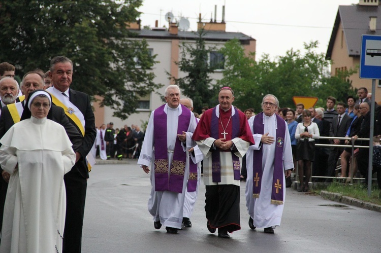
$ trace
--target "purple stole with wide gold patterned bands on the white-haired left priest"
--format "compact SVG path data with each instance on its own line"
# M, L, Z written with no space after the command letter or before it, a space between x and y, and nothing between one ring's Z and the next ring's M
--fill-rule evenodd
M187 131L190 122L190 111L185 106L181 106L182 113L179 116L176 134ZM164 112L164 107L165 104L158 107L153 116L155 191L182 193L186 153L181 147L180 140L176 138L171 169L168 175L167 114Z

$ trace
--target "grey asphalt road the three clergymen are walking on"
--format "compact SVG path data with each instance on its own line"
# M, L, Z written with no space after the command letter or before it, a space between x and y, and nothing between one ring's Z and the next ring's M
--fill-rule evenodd
M193 227L167 234L147 210L149 175L136 164L95 165L88 180L82 252L381 252L381 213L287 188L275 234L250 230L241 184L241 230L221 239L206 228L202 184ZM342 205L342 206L338 206Z

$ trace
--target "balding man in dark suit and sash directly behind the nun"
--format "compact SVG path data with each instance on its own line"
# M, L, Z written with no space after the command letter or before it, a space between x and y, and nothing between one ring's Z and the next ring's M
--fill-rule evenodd
M4 106L0 115L0 138L20 120L25 119L22 116L25 101L29 96L29 93L37 89L44 88L44 78L35 71L28 72L24 75L21 82L21 89L24 92L25 100L18 103L11 103ZM12 110L16 109L16 110ZM73 143L73 149L76 150L81 146L82 136L78 130L69 122L62 108L52 105L52 120L65 127L65 130ZM3 169L0 169L2 173L1 181L2 187L0 190L0 222L3 223L3 211L4 203L7 195L8 182L10 174ZM1 226L0 224L0 226Z

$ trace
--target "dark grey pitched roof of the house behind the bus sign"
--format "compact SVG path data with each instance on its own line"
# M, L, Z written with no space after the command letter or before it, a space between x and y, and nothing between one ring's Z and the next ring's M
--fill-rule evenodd
M376 31L369 30L370 17L377 17ZM381 7L380 6L339 6L331 39L328 44L326 59L331 59L333 45L340 25L343 26L344 37L351 57L360 56L361 35L381 35Z

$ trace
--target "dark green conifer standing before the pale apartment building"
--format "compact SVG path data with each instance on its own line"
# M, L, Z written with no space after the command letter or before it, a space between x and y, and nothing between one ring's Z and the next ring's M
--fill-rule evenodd
M192 98L195 112L201 112L203 106L209 108L214 106L217 98L211 85L212 79L209 77L217 66L210 66L208 62L208 56L214 48L206 47L204 35L205 31L199 30L194 45L190 43L181 45L181 59L176 64L187 75L183 78L175 78L167 72L170 79L180 87L182 93Z

